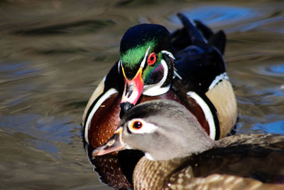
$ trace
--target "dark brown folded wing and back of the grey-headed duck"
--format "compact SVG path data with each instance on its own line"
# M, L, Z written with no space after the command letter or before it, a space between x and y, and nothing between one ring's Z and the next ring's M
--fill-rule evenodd
M241 134L220 139L219 146L190 159L195 177L226 174L284 184L284 136Z

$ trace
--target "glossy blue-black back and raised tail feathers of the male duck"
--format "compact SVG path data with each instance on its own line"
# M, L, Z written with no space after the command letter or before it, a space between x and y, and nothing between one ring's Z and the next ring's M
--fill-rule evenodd
M217 76L227 79L222 53L226 45L223 31L213 33L200 21L192 23L178 14L183 28L172 35L175 69L188 91L206 93Z

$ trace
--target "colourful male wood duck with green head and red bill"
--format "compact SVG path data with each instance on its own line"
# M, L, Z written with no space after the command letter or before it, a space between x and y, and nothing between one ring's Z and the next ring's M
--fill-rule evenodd
M84 110L84 140L92 147L107 142L133 105L154 99L185 105L212 139L231 131L237 108L222 57L226 36L178 16L184 28L172 35L163 26L146 23L124 34L119 61Z

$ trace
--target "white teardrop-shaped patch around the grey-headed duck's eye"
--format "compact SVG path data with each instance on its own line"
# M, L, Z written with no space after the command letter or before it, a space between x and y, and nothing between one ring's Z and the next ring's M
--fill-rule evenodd
M136 129L133 127L134 122L140 122L142 126ZM152 123L146 122L141 118L130 120L127 127L129 127L130 132L136 134L153 133L158 129L157 126L153 125Z

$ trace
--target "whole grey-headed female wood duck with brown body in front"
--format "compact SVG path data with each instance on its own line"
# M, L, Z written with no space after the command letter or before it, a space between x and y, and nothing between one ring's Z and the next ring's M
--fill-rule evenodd
M195 115L173 100L131 108L92 155L121 149L145 153L133 172L134 189L284 188L278 185L284 184L284 136L240 134L214 141Z

